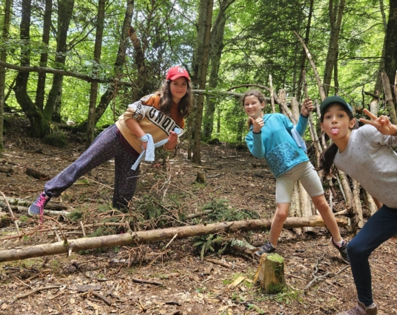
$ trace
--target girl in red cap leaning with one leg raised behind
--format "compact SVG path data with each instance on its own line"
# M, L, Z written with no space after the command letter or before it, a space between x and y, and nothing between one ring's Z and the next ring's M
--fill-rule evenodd
M44 185L30 215L42 214L52 197L58 197L79 177L114 158L113 207L125 208L136 190L139 166L132 170L150 135L153 142L167 139L166 151L173 151L185 128L185 118L192 109L192 91L188 71L173 66L157 92L128 105L118 121L97 136L90 147L70 166ZM179 129L177 134L174 129ZM177 130L175 129L175 130Z

